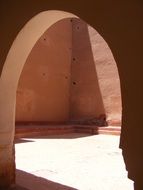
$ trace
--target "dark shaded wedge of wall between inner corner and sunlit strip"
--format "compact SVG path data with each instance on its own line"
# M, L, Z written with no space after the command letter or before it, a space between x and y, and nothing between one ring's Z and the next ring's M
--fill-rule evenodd
M72 23L70 116L71 120L88 120L105 113L93 57L96 51L91 49L88 25L79 19L73 19Z

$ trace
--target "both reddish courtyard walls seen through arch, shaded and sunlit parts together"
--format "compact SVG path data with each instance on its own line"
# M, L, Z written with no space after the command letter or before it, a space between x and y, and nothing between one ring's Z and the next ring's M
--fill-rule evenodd
M52 26L32 49L17 90L16 121L120 121L118 71L109 47L80 19Z

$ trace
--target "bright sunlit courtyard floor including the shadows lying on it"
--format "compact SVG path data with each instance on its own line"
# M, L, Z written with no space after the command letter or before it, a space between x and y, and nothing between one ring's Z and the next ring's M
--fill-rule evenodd
M113 135L17 140L14 190L133 190L118 144Z

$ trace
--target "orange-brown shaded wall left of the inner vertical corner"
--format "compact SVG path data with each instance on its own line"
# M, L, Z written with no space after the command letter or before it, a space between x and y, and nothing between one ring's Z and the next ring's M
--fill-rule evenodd
M66 19L36 43L19 80L16 121L68 120L71 42L71 22Z

